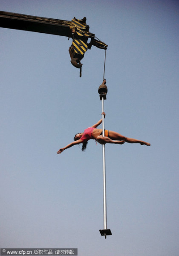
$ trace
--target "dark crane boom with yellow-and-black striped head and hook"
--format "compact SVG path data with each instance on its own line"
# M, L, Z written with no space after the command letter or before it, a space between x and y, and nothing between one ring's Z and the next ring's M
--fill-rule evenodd
M85 17L81 20L74 17L71 21L66 21L0 11L0 27L61 35L68 37L68 39L72 38L72 45L69 48L71 63L80 68L80 70L82 67L80 61L87 49L91 49L92 45L107 49L107 44L95 39L95 35L90 33L90 27L86 25ZM88 43L89 38L90 43Z

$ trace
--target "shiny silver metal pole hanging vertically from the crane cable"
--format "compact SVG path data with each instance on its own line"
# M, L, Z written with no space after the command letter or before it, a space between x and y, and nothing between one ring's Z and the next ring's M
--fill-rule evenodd
M104 112L104 98L102 97L102 112ZM102 136L104 134L104 115L102 114ZM105 144L102 144L103 155L103 211L104 211L104 230L107 229L107 203L106 203L106 166L105 166Z

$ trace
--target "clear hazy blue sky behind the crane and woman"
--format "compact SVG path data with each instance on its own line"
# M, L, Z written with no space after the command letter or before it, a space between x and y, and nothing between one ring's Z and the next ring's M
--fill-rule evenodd
M66 37L0 28L0 247L78 248L78 255L179 253L179 2L0 0L0 10L87 18L108 45L105 128L145 140L61 155L101 118L104 50L85 53L82 77Z

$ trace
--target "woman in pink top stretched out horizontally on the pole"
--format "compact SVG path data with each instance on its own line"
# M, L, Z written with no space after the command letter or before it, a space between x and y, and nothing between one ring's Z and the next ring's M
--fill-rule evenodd
M102 112L105 117L105 113ZM105 136L102 136L102 129L97 129L97 127L102 123L102 119L100 119L96 124L93 126L85 129L83 133L77 133L74 137L74 141L68 144L64 148L60 148L57 154L61 154L65 149L71 148L74 145L83 143L82 151L85 150L86 144L88 143L89 139L95 139L100 144L106 143L114 143L114 144L124 144L125 142L128 143L140 143L141 145L150 146L150 143L147 143L142 140L127 138L119 133L111 130L105 130Z

